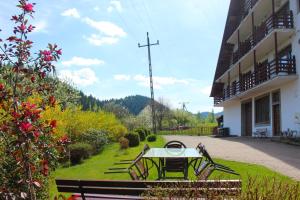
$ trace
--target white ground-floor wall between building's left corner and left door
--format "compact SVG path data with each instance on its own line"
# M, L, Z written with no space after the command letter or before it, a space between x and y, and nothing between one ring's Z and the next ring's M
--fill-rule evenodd
M230 135L241 136L241 103L232 102L224 106L224 127L229 127Z

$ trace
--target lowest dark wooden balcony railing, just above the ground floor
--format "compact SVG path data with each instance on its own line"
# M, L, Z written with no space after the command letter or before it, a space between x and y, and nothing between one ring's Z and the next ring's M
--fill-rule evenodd
M239 81L233 82L223 90L223 94L214 98L215 105L241 94L277 76L296 74L296 59L279 58L266 63L257 63L256 70L241 76Z

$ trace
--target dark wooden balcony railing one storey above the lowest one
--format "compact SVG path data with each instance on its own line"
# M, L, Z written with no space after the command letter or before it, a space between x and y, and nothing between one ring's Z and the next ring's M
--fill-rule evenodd
M254 27L254 33L248 39L239 43L238 49L233 52L232 63L238 62L244 55L253 49L260 41L262 41L274 29L290 29L294 28L293 12L286 14L271 15L261 25Z

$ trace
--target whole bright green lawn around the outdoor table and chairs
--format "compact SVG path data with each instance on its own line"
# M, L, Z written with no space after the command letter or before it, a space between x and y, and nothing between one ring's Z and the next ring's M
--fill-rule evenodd
M161 136L158 137L156 142L148 143L150 147L163 147L164 140ZM70 168L59 168L52 173L52 178L50 182L50 195L51 199L57 194L56 185L54 182L55 178L64 178L64 179L107 179L107 180L121 180L121 179L130 179L128 174L104 174L107 168L112 167L113 163L121 159L132 159L134 158L143 148L145 142L142 142L140 146L129 148L128 150L121 151L119 150L119 144L110 144L105 147L105 149L96 156L93 156L90 159L84 161L83 164L76 165ZM215 159L217 162L222 163L226 166L231 167L236 172L241 174L241 179L243 186L246 186L247 178L250 176L255 176L258 179L264 177L276 177L280 180L285 180L291 182L292 179L281 175L277 172L274 172L266 167L248 163L226 161L222 159ZM193 176L193 171L189 171L190 179L195 179ZM155 169L150 171L149 179L155 179L157 173ZM213 173L211 178L222 178L222 179L239 179L238 176L234 175L225 175L222 173Z

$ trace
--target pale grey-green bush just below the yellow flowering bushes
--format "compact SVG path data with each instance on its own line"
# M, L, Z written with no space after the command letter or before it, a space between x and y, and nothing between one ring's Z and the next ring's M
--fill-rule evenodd
M90 129L80 134L76 139L77 142L87 143L93 147L93 154L97 154L108 143L107 134L102 130Z

